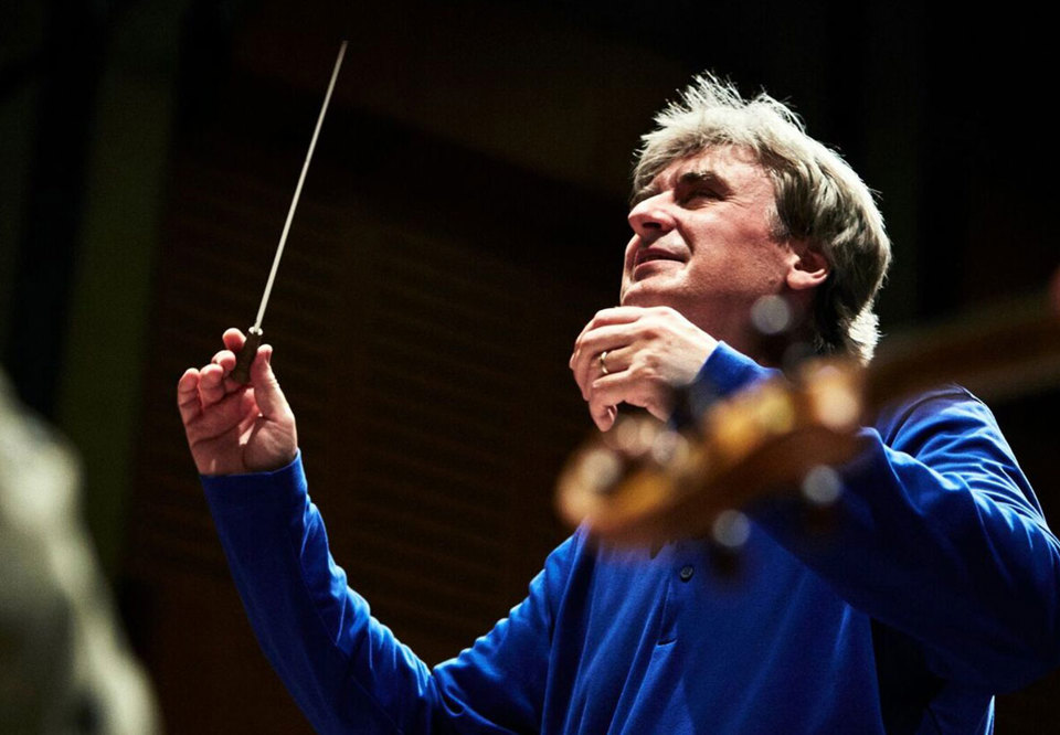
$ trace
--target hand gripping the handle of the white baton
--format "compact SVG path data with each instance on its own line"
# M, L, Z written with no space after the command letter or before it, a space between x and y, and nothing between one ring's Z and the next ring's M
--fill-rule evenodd
M189 368L177 384L188 446L201 475L279 469L298 451L295 415L273 374L273 349L263 344L251 365L251 384L229 377L245 338L224 332L224 350L202 369Z

